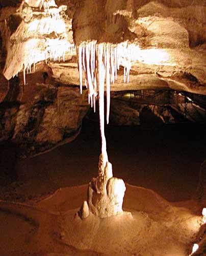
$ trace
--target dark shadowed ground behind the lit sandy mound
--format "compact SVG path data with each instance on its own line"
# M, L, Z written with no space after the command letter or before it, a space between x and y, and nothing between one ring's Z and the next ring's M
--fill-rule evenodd
M204 125L165 124L155 130L108 125L106 137L116 177L153 189L169 201L187 200L195 193L199 168L206 158ZM8 159L10 153L5 144L2 157ZM13 191L8 188L7 194L24 200L60 187L87 184L96 177L99 153L98 121L85 119L80 135L71 143L33 158L16 161L11 158L10 165L2 159L4 179L9 179L4 175L8 166L13 180L17 179L8 186Z

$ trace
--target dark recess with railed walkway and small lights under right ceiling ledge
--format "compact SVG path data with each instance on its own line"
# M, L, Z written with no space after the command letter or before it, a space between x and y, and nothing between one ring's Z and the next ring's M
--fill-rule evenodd
M174 90L139 90L112 92L112 99L130 103L165 106L172 109L185 121L205 123L205 95Z

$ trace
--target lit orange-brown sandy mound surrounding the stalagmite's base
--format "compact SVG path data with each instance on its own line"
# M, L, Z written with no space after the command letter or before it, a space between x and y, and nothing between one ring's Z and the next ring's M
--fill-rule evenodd
M188 255L200 228L194 201L171 204L154 191L126 185L131 211L81 220L87 185L66 187L27 204L0 202L1 255ZM5 231L6 230L6 231Z

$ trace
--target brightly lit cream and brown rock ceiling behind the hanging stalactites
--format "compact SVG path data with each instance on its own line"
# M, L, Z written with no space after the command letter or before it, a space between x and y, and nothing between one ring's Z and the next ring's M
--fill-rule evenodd
M0 7L1 101L16 75L25 86L46 79L79 86L76 50L88 42L123 46L112 91L206 95L205 0L1 0Z

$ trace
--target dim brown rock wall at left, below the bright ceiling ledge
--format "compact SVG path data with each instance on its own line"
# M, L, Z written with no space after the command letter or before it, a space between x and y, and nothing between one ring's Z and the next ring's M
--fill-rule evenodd
M20 101L11 95L0 109L0 140L19 145L20 157L45 152L79 134L89 109L86 91L80 95L78 88L46 84L21 90Z

